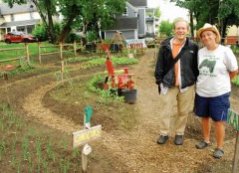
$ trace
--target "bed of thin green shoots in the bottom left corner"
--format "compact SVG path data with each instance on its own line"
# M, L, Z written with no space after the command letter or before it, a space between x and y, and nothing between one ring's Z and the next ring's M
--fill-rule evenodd
M71 159L79 158L80 151L78 154L76 151L72 151L72 154L69 154L69 156L68 154L65 155L64 151L67 151L67 153L69 151L68 141L62 139L59 146L57 146L50 142L52 141L51 138L42 137L42 133L40 132L39 134L35 126L34 128L31 126L25 128L28 123L24 122L21 116L16 115L16 112L8 104L0 104L0 114L0 122L4 123L3 130L0 131L1 163L4 165L6 163L9 164L13 172L19 173L26 171L29 173L47 173L50 172L54 165L59 165L57 172L72 171L71 167L75 165L71 163ZM18 123L22 125L17 125ZM25 135L19 135L22 134L20 132L24 132ZM58 155L58 152L54 150L57 147L63 151L62 155Z

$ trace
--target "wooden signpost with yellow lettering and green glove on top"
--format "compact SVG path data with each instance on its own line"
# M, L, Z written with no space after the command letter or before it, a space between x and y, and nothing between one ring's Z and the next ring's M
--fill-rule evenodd
M84 129L72 133L73 136L73 148L79 147L84 144L81 151L82 159L82 172L87 171L87 156L92 152L91 146L88 142L96 140L101 137L101 125L90 127L90 119L93 114L93 109L90 106L85 108L84 115Z

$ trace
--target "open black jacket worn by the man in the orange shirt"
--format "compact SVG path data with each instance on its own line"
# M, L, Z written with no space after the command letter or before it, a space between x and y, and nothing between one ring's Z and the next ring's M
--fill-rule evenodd
M198 46L189 38L177 57L173 58L170 40L168 38L161 43L155 68L156 83L163 83L167 87L175 85L174 64L176 59L180 59L181 88L193 85L198 76L197 53Z

